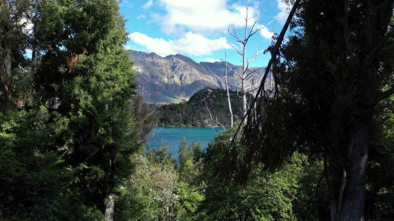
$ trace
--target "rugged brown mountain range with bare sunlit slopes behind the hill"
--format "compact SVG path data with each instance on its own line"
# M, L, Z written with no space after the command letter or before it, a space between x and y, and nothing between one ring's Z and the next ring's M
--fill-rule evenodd
M139 83L139 93L148 102L158 104L179 103L182 99L188 100L197 91L205 88L225 88L221 82L225 76L224 62L200 62L196 63L190 57L181 54L161 57L156 53L133 51L130 60L135 61L134 68ZM229 63L230 68L238 73L242 72L242 66ZM258 69L249 68L248 73ZM255 71L255 77L261 79L265 68ZM266 85L270 84L270 76L267 77ZM227 70L227 81L230 85L240 85L241 80L234 73ZM252 75L247 79L250 86ZM260 84L260 83L258 83ZM235 87L232 90L237 90Z

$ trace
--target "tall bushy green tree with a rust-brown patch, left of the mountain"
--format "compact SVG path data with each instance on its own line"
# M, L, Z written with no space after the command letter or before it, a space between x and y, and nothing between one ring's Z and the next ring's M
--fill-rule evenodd
M34 31L41 102L50 120L68 121L56 139L67 146L65 162L79 168L73 191L104 211L104 199L128 176L136 151L125 21L115 0L48 2L40 11Z

